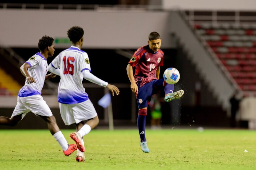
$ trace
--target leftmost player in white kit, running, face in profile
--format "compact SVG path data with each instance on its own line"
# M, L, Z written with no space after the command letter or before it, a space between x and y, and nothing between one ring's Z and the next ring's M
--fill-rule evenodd
M18 93L18 102L11 118L0 117L0 125L15 126L31 111L47 122L51 134L60 144L64 154L68 156L77 149L77 146L68 144L50 108L41 96L44 81L56 77L52 73L46 75L47 58L53 56L55 51L53 41L53 38L43 36L38 42L40 52L33 55L20 67L21 73L26 77L25 85Z

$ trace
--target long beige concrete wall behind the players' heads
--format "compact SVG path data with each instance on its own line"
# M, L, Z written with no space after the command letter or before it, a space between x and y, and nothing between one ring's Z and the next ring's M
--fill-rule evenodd
M70 27L80 26L85 31L84 48L138 48L147 44L152 31L161 35L162 48L170 48L168 15L167 11L0 9L0 46L37 47L44 35L67 38Z

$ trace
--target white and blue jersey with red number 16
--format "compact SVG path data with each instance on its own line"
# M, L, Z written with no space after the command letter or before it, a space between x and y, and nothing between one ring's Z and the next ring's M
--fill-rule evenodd
M62 51L51 62L54 68L60 68L58 102L76 104L89 99L83 87L83 71L91 71L89 57L86 52L76 46Z

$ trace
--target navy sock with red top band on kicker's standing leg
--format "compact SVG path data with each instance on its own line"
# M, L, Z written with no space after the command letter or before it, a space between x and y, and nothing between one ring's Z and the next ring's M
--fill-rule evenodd
M137 119L137 125L139 129L139 134L140 134L140 142L147 141L145 137L146 116L147 116L147 109L140 109L138 119Z

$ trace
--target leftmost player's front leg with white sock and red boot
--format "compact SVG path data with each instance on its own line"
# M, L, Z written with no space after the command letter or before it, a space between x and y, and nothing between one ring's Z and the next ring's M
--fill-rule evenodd
M68 144L66 138L60 131L60 129L56 123L56 119L53 115L50 117L41 116L41 115L39 115L39 116L47 122L49 131L51 132L53 137L57 140L57 142L59 143L59 145L61 146L61 148L63 150L63 153L66 156L69 156L71 153L73 153L77 149L76 144Z

